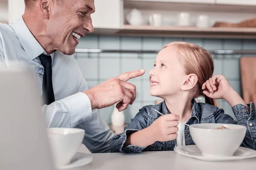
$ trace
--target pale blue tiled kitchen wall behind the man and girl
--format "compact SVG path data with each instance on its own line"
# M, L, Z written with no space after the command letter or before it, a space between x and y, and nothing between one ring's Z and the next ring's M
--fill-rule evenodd
M100 48L111 50L160 50L163 45L172 41L186 41L196 43L207 50L255 50L256 40L241 39L195 39L169 37L121 37L86 35L80 39L77 48ZM233 88L241 94L239 77L239 57L241 55L218 55L215 59L214 74L222 74L229 80ZM156 97L149 95L149 74L153 68L156 54L87 54L76 53L75 57L87 80L89 88L115 77L125 71L143 68L146 73L143 77L129 82L137 87L137 99L134 104L125 110L125 122L129 123L135 114L144 105L154 104ZM227 102L220 100L221 107L227 114L232 110ZM113 106L100 109L99 112L107 123L111 123Z

